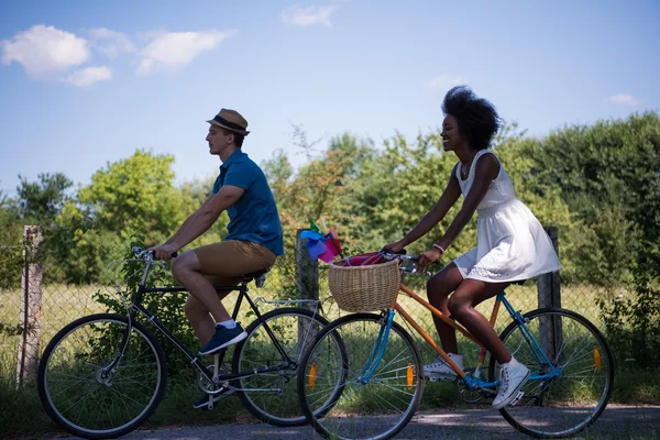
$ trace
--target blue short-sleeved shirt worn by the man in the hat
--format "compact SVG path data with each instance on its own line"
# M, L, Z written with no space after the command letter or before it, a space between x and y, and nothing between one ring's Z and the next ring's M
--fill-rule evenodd
M282 224L277 206L264 172L248 154L237 150L220 165L213 194L223 185L238 186L245 193L227 212L229 235L226 240L244 240L267 248L275 255L284 254Z

